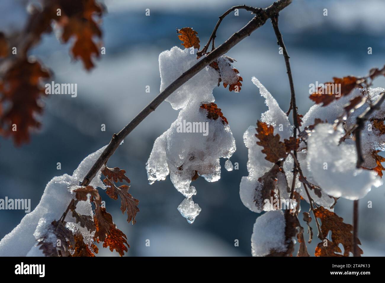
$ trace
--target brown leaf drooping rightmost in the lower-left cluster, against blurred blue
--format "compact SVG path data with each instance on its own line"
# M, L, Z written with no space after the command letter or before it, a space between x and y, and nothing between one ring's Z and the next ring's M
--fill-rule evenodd
M122 213L126 212L127 210L127 222L130 223L132 220L132 224L135 224L135 216L136 213L139 212L139 208L137 207L137 205L139 204L139 200L133 198L132 195L128 193L130 187L127 185L122 185L117 188L117 186L115 186L115 184L109 179L104 179L103 182L107 186L106 193L110 198L112 198L113 200L117 200L118 195L121 197Z

